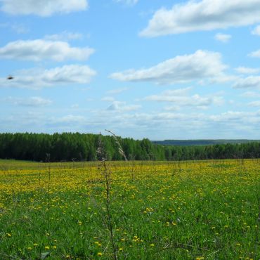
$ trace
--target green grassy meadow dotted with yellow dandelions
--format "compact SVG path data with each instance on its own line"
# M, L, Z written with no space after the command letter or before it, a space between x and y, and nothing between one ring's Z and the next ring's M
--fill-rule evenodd
M260 259L259 160L0 160L0 259Z

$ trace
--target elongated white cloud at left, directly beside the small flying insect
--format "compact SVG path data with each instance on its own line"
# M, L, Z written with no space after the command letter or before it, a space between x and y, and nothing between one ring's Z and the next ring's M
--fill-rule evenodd
M41 89L46 86L87 84L95 75L96 72L86 65L65 65L50 70L20 70L13 74L14 79L0 78L0 87Z

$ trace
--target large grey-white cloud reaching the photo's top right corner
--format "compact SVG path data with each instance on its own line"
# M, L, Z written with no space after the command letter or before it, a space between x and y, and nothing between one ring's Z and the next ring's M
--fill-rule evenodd
M256 22L260 22L260 0L188 1L156 11L141 36L224 29Z

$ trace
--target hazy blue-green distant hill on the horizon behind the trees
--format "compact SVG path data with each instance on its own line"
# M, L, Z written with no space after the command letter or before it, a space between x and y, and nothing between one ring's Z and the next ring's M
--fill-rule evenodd
M252 143L260 142L260 140L248 140L248 139L202 139L202 140L164 140L164 141L152 141L152 143L158 145L218 145L226 143Z

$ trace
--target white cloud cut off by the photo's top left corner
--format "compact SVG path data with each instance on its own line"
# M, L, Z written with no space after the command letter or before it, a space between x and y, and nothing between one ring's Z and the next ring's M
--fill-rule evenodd
M71 13L88 8L86 0L1 0L1 11L11 15L50 16L54 13Z

